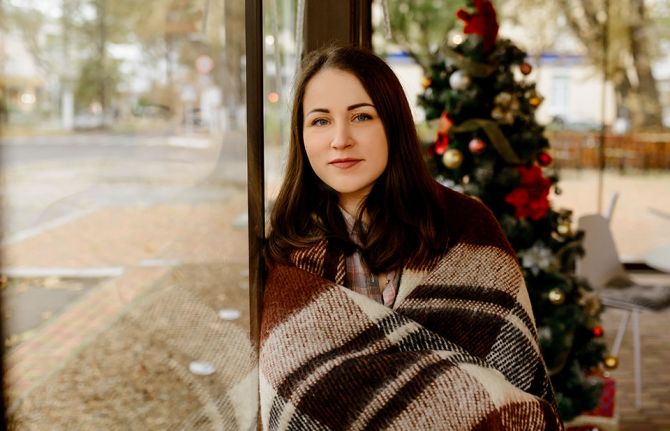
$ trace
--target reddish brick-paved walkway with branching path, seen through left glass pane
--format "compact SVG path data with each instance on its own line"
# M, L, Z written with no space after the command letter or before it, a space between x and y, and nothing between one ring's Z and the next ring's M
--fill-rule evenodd
M4 267L14 270L123 271L9 350L6 367L10 399L20 399L44 382L175 267L245 267L247 232L232 224L245 211L245 191L225 203L104 208L3 247Z

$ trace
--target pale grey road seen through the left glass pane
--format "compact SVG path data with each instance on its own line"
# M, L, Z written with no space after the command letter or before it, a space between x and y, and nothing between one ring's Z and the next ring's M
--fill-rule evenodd
M100 207L219 199L246 181L239 134L13 137L0 157L5 242Z

